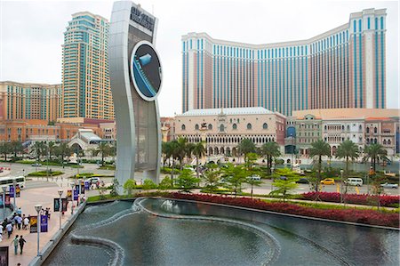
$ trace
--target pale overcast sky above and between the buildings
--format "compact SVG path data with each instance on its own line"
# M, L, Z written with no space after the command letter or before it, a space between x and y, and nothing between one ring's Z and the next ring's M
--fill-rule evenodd
M158 18L156 50L163 66L162 117L181 113L181 43L188 32L268 44L308 39L348 22L351 12L387 9L387 107L399 108L398 1L134 1ZM109 20L113 1L0 0L0 81L61 83L63 32L71 14Z

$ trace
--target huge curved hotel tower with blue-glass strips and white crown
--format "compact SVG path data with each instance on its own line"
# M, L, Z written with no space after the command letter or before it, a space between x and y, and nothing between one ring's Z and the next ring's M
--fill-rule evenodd
M307 40L242 44L205 33L182 36L182 111L386 107L386 9Z

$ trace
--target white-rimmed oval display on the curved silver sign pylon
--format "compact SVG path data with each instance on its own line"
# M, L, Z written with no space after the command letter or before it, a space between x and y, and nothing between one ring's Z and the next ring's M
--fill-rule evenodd
M135 45L131 55L131 77L136 92L146 101L156 100L163 75L158 54L148 41Z

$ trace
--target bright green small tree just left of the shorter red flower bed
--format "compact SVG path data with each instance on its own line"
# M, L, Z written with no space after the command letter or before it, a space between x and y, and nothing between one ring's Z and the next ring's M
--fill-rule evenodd
M293 172L289 168L276 169L275 173L273 174L273 177L274 177L274 182L272 183L272 185L277 189L271 191L270 194L272 195L282 194L284 200L288 192L298 187L296 181L299 180L299 175Z

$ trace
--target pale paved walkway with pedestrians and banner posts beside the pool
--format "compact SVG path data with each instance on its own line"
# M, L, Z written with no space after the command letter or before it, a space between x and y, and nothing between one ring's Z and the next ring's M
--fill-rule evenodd
M59 197L58 189L59 186L54 185L52 187L36 188L36 189L23 189L21 190L21 197L17 197L17 206L20 206L22 214L28 216L28 214L36 215L35 206L41 204L44 208L50 207L53 209L53 198ZM64 186L63 197L67 195L67 187ZM76 204L76 202L74 202ZM61 217L61 222L67 221L70 216L71 209L70 204L68 205L68 211ZM49 221L48 232L40 233L40 249L52 238L52 236L60 228L60 213L52 213L51 219ZM27 243L24 246L23 254L14 254L14 246L12 244L12 238L15 235L22 235L26 239ZM4 230L3 242L0 243L1 246L9 246L9 265L28 265L28 263L37 254L37 233L29 233L29 230L13 230L10 239L7 238L7 233Z

